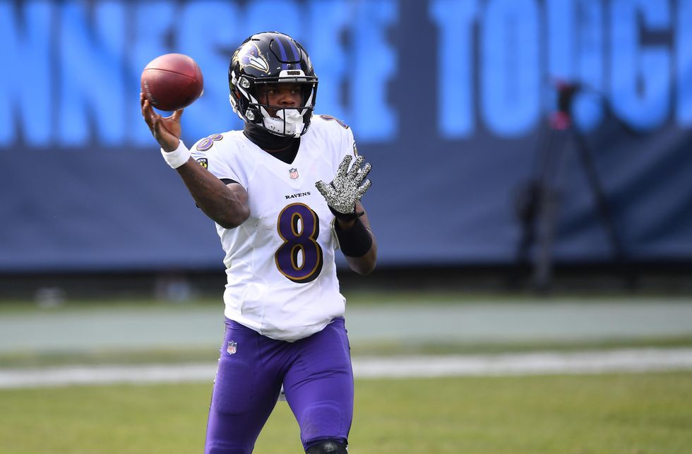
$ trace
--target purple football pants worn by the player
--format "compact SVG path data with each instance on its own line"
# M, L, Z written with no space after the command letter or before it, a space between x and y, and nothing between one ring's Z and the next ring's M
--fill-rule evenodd
M209 408L205 453L249 454L283 383L304 448L346 443L353 417L353 371L343 318L284 342L226 320Z

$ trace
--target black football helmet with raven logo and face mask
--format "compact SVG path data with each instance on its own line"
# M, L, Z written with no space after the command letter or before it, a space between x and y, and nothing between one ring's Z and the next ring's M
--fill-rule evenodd
M303 104L298 109L270 106L259 99L258 86L296 83ZM233 111L247 123L278 136L300 137L308 130L317 96L317 76L305 49L280 32L252 35L238 47L228 68L229 98ZM267 107L276 110L272 117Z

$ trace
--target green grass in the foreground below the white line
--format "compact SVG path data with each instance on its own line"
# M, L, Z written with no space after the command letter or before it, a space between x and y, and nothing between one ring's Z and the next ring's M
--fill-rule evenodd
M211 383L0 390L0 453L200 453ZM650 454L692 446L689 372L357 379L350 452ZM278 402L256 454L302 453Z

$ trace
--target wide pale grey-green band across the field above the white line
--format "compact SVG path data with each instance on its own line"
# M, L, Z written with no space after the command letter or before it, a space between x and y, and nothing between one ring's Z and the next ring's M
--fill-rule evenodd
M371 298L377 301L377 297ZM457 304L460 298L450 295L441 302L421 295L415 304L347 305L349 340L352 345L542 342L549 346L551 342L607 344L692 336L692 299L688 297L492 297ZM218 350L223 333L222 309L212 305L95 304L41 311L0 310L0 353L213 351Z

